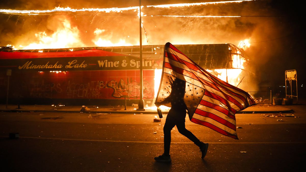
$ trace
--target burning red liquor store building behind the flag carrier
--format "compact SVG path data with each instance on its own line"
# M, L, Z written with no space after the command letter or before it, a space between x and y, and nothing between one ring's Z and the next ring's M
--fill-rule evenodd
M175 45L210 73L234 86L245 58L233 44ZM159 87L163 45L142 46L144 103L151 106ZM138 103L140 47L0 49L0 87L9 84L9 103L99 104ZM7 76L7 70L12 70ZM2 101L6 92L1 92Z

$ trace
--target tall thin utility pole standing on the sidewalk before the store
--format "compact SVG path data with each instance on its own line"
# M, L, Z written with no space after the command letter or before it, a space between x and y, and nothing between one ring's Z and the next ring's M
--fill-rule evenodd
M139 52L139 60L140 60L140 98L138 103L137 110L145 110L144 109L144 91L143 91L143 78L142 78L142 35L141 35L141 0L139 0L139 37L140 37L140 52Z

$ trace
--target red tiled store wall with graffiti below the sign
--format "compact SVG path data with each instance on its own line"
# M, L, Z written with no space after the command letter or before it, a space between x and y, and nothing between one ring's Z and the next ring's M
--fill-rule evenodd
M34 99L139 99L139 70L37 72L13 71L9 97ZM0 97L6 98L6 72L0 74ZM144 99L154 98L154 70L143 70Z

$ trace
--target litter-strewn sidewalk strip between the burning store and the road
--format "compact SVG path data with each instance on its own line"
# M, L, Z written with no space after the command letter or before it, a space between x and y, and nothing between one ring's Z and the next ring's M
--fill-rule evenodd
M17 109L17 105L6 105L0 104L1 112L81 112L82 106L59 106L59 105L20 105L20 109ZM152 109L145 109L144 111L137 110L138 107L127 106L126 110L124 106L88 106L87 110L82 111L83 113L117 113L117 114L157 114L156 107ZM162 110L163 113L168 113L168 110ZM237 114L260 114L260 113L292 113L293 110L282 105L268 105L268 104L257 104L248 107L244 110L237 112Z

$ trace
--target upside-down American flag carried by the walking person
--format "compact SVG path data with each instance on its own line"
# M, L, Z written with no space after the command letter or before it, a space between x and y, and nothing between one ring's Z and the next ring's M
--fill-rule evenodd
M162 102L173 89L175 78L186 81L184 102L190 121L238 139L235 113L255 104L245 91L208 73L171 43L166 43L162 78L155 102ZM163 104L171 107L171 104Z

